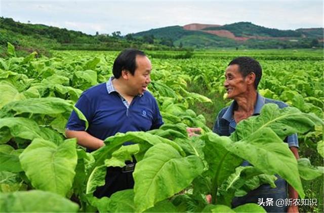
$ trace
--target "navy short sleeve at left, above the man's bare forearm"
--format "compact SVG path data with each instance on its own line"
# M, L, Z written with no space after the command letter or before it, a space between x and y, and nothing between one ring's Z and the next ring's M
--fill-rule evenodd
M90 123L93 114L93 109L91 109L90 101L85 94L82 94L80 96L80 98L77 100L75 104L75 107L85 115L88 122ZM73 131L85 131L86 123L80 120L77 114L73 110L67 121L66 129L73 130Z

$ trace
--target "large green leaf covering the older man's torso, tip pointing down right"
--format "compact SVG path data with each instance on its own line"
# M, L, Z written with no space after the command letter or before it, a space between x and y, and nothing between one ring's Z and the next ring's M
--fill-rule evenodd
M266 174L279 174L301 197L305 196L295 156L287 143L270 128L261 128L249 137L233 143L230 150Z

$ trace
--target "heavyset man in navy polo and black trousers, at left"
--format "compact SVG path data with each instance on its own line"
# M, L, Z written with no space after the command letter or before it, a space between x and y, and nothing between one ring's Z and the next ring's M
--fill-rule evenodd
M104 139L117 132L148 131L163 124L157 102L147 91L151 82L151 62L144 52L126 49L114 61L106 83L83 92L75 104L86 116L89 128L72 112L66 125L66 136L76 137L77 143L88 150L104 146ZM131 142L125 145L131 144ZM116 191L134 186L134 164L126 168L108 167L105 185L98 187L96 197L110 196Z

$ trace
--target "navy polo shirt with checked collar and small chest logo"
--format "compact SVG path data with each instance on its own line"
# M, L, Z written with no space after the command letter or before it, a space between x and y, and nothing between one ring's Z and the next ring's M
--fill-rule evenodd
M157 102L150 92L135 96L131 102L123 98L108 82L91 87L83 92L75 107L87 118L89 128L73 111L66 129L87 131L94 137L106 139L117 132L148 131L163 124Z

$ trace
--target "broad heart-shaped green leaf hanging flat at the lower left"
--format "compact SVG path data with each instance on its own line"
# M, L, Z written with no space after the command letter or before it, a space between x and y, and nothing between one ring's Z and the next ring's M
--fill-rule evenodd
M72 187L77 163L76 139L57 146L51 141L34 139L19 156L21 166L35 189L65 196Z

